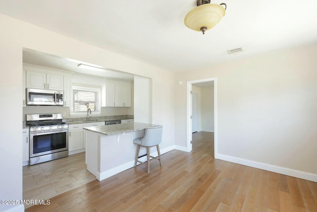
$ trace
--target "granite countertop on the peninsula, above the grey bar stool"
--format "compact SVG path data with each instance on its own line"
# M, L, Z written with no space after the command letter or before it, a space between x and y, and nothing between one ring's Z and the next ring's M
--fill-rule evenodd
M144 123L123 123L116 125L102 125L94 127L85 127L83 129L89 130L95 133L103 134L106 136L112 136L117 134L129 133L134 131L145 130L148 127L156 127L159 125L144 124Z

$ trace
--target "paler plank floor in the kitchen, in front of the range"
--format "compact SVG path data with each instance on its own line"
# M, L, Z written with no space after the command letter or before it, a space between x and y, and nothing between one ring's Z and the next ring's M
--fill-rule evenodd
M86 169L85 152L23 166L23 200L48 200L96 180ZM28 207L31 206L25 205L25 208Z

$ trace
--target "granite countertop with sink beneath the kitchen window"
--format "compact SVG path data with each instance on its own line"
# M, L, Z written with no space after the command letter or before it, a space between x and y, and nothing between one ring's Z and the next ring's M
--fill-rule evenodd
M72 124L84 124L84 123L93 123L93 122L105 122L105 121L115 121L115 120L124 120L124 119L133 119L132 115L120 115L120 116L91 116L89 121L87 117L84 118L69 118L63 119L69 125Z

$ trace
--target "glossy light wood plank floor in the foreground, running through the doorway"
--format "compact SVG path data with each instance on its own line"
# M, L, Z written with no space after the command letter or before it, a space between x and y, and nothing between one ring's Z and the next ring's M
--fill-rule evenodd
M213 134L195 133L193 151L94 180L26 212L317 212L317 183L213 158Z

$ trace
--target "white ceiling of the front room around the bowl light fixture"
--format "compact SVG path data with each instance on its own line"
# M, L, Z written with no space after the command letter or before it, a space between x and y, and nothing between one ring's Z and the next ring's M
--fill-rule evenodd
M205 35L184 25L195 0L0 0L0 13L174 72L317 41L316 0L221 2Z

